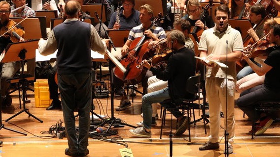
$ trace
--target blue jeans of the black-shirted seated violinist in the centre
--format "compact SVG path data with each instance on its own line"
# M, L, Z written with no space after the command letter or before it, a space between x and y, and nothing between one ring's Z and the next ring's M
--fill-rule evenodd
M170 101L165 101L171 99L169 96L168 87L145 94L142 97L142 110L143 110L143 125L146 129L151 129L152 125L152 104L160 103L166 109L174 108ZM169 110L176 118L183 116L183 114L178 109Z

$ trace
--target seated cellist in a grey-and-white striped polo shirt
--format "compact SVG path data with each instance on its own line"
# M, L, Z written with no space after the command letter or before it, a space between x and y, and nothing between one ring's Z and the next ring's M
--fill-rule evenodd
M149 27L152 25L151 18L153 17L153 9L149 4L145 4L140 6L140 21L141 25L133 27L129 33L128 40L126 41L125 45L122 47L122 56L125 56L130 51L130 46L136 38L142 37L145 35L148 38L153 40L160 40L166 38L165 31L162 27L159 26L152 26L150 29ZM143 87L143 94L147 93L147 80L149 77L152 76L150 71L147 71L145 77L142 79L142 87ZM120 88L124 85L124 82L115 77L113 78L114 85L116 88ZM120 106L116 107L116 110L124 110L131 103L127 99L126 94L124 93L123 99L121 100Z

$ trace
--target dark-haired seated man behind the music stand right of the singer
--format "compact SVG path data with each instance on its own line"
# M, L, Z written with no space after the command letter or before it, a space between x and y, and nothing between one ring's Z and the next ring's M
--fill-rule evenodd
M259 24L260 22L262 22L264 20L264 18L266 17L266 11L263 5L261 4L254 4L253 6L251 6L250 11L249 11L249 18L252 24L255 24L256 28L249 28L247 33L249 34L249 36L253 39L253 42L258 41L258 39L260 39L261 37L264 36L264 32L263 32L263 25ZM258 25L259 24L259 25ZM246 41L244 41L246 42ZM247 46L247 45L245 45ZM237 74L237 80L252 74L253 70L251 69L250 66L248 66L247 64L244 66L244 68L238 72Z

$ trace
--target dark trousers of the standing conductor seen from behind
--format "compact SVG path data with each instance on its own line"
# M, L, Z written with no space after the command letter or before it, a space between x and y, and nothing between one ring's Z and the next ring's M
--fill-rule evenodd
M73 154L86 153L92 103L91 73L59 74L58 82L69 150ZM79 114L78 136L74 117L76 107Z

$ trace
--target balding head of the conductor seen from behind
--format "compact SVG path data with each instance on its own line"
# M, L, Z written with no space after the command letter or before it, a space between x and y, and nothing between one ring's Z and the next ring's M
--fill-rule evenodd
M76 0L69 0L65 4L65 14L68 18L76 18L79 16L79 11L81 10L81 5Z

